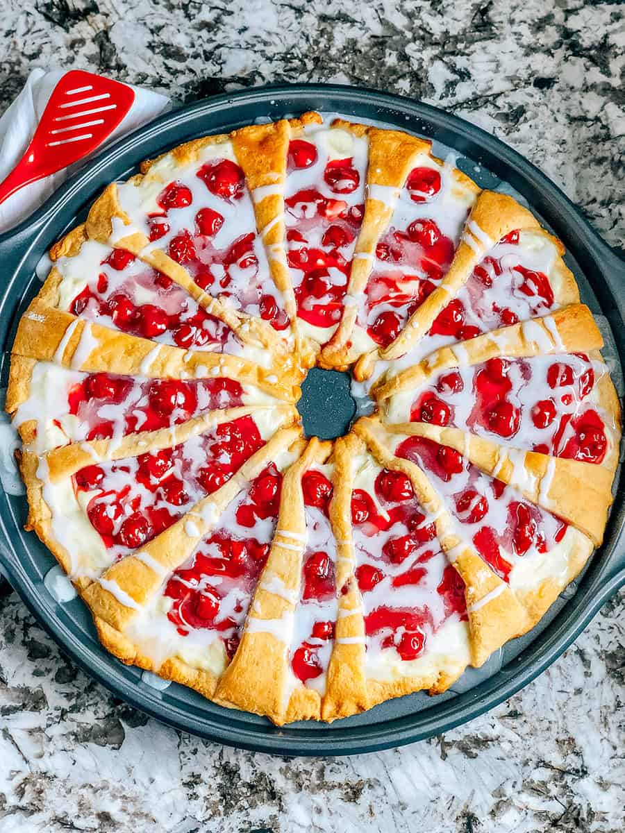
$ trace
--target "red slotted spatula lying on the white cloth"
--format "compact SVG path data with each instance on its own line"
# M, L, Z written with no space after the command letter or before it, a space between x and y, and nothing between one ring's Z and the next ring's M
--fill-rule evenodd
M133 101L134 92L126 84L82 69L66 72L52 90L32 142L0 182L0 202L91 153L111 135Z

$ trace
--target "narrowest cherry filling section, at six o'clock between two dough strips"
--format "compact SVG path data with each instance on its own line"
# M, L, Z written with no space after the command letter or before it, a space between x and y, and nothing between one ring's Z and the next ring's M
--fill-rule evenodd
M328 670L337 618L336 544L328 507L333 486L318 469L302 478L308 546L303 556L302 595L291 649L293 674L304 685Z

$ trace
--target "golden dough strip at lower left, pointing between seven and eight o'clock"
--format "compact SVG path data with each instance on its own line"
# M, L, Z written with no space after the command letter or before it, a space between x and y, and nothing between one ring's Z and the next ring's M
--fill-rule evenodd
M243 484L258 476L274 456L291 446L299 436L301 431L298 428L278 431L218 491L198 501L188 515L168 526L140 551L110 566L99 580L103 580L104 584L94 582L83 594L92 613L122 631L161 586L163 576L176 570L192 555L198 543L213 529L228 503L241 491ZM155 569L156 565L162 569Z

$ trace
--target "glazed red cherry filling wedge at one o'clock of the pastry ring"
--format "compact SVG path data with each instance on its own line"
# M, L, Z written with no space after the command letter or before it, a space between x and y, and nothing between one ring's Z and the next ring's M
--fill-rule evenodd
M438 170L413 168L391 226L376 247L365 290L366 309L360 313L358 325L380 347L388 347L398 337L408 318L443 280L453 260L466 212L458 216L454 239L443 234L436 220L441 194ZM400 220L403 227L398 227Z

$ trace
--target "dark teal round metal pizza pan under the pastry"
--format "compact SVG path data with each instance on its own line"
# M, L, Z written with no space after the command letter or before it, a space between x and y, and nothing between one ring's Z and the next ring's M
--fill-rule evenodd
M0 237L0 338L6 387L8 353L24 308L36 294L35 267L63 232L80 222L102 187L137 171L138 163L193 137L224 132L255 120L293 116L305 110L340 112L353 119L431 137L440 156L453 149L458 167L483 187L513 192L567 247L582 299L599 317L607 359L617 387L625 366L625 262L592 230L582 213L530 162L503 142L447 112L356 87L321 84L264 87L221 95L158 118L107 148L78 172L28 221ZM622 393L622 389L619 390ZM343 374L313 371L305 383L302 411L309 433L333 436L354 412ZM0 566L33 615L72 660L122 700L170 726L212 741L279 755L354 755L437 735L493 708L544 671L576 638L602 604L625 584L625 500L620 471L602 547L583 575L562 594L527 636L509 642L481 671L468 671L453 691L388 701L363 715L325 724L278 728L241 711L215 706L183 686L158 691L141 672L103 651L87 609L78 599L59 604L43 577L52 555L23 531L24 496L0 494ZM589 681L592 685L592 681Z

